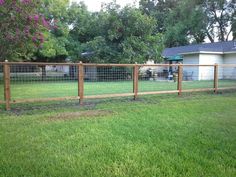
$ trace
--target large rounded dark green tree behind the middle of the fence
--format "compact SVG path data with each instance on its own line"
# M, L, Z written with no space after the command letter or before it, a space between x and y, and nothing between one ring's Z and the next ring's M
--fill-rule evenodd
M139 9L120 8L113 2L99 13L83 11L80 15L86 16L86 21L83 18L76 20L71 36L77 38L82 52L93 53L83 61L134 63L160 59L163 45L162 36L154 33L156 21ZM86 31L86 38L83 31Z

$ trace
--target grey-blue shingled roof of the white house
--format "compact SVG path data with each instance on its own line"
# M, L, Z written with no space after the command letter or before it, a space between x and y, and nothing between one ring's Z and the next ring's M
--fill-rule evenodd
M215 42L187 45L180 47L166 48L162 52L164 58L170 58L171 56L191 54L191 53L236 53L236 41L227 42Z

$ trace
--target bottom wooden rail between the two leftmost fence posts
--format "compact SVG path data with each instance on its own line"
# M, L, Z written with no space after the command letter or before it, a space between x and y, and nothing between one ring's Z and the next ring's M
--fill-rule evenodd
M60 98L35 98L35 99L19 99L11 101L14 103L34 103L34 102L47 102L47 101L64 101L64 100L78 100L79 97L71 96L71 97L60 97Z

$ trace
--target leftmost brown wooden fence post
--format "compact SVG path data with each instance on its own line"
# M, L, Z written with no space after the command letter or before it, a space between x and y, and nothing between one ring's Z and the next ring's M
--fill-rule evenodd
M11 100L11 89L10 89L10 66L7 63L8 61L5 60L5 63L3 64L3 74L4 74L4 99L6 103L6 110L10 110L10 100Z

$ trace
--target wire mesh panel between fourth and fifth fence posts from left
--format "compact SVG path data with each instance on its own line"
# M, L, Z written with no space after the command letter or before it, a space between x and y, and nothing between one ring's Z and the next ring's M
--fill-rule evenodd
M212 66L183 66L182 89L213 89L214 65Z

